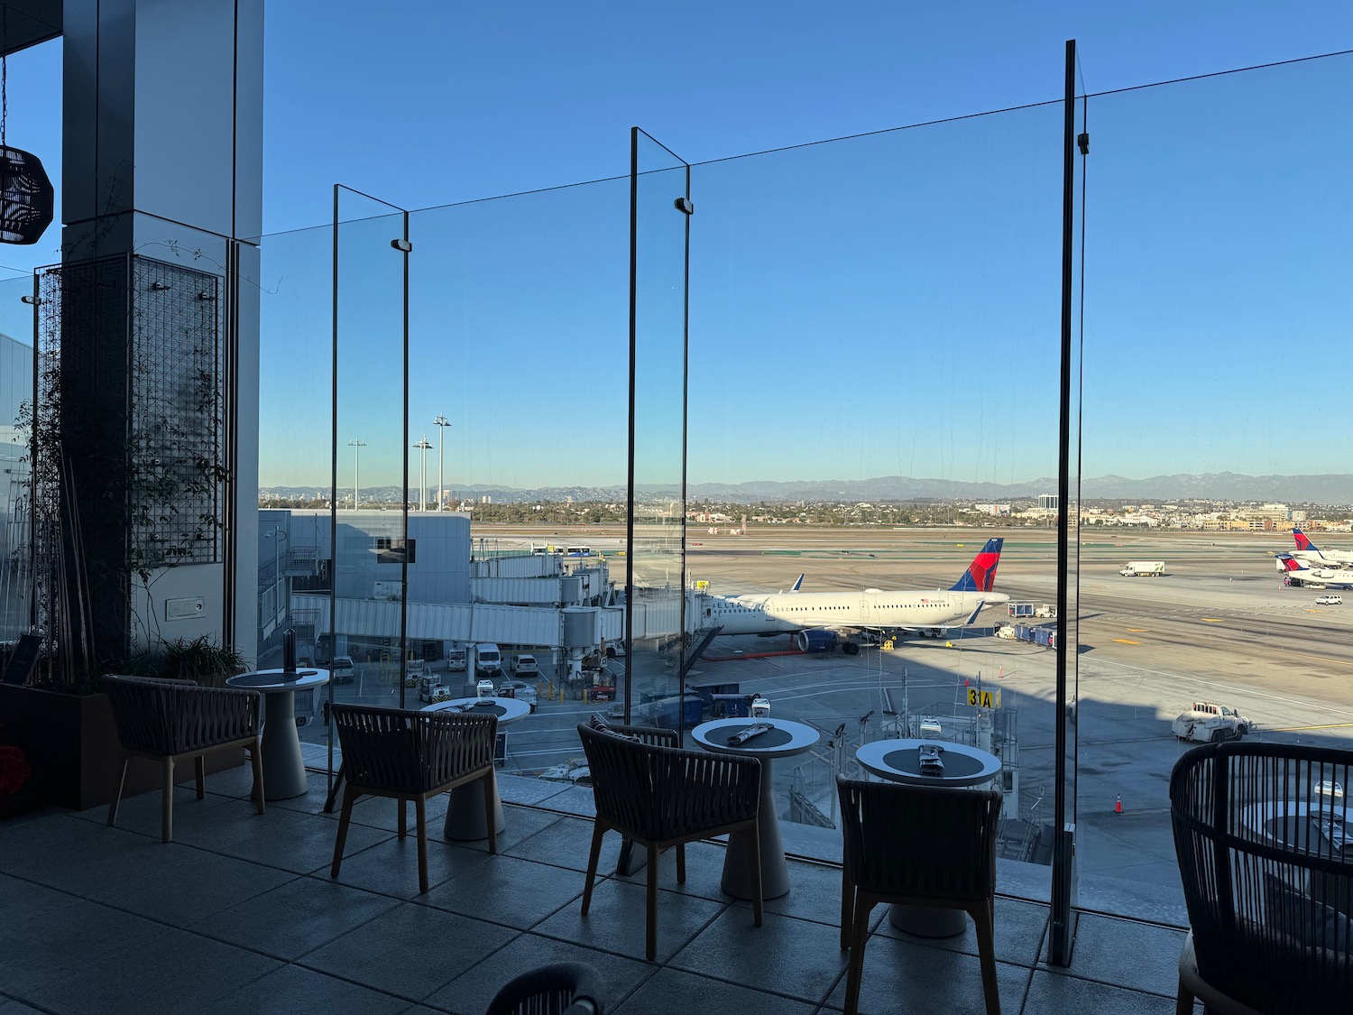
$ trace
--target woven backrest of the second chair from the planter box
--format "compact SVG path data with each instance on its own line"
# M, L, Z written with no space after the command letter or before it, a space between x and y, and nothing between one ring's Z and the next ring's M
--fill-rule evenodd
M494 763L498 716L336 704L333 724L353 786L425 793Z

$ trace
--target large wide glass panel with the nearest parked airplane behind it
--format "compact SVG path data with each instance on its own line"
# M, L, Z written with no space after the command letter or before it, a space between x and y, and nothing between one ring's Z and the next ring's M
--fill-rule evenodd
M691 169L690 579L723 633L687 683L819 729L774 766L792 853L839 861L862 744L966 743L1001 763L1001 890L1047 897L1062 127Z

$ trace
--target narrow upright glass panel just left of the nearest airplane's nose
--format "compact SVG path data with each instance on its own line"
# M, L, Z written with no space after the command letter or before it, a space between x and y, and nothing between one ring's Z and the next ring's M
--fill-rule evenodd
M689 168L633 130L625 713L687 725L682 696ZM700 632L702 633L702 632ZM698 721L698 700L694 702Z

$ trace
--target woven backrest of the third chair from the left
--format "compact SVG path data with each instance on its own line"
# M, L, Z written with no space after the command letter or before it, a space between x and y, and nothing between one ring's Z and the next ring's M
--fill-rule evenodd
M760 762L632 740L579 724L602 819L649 842L748 820L760 803Z

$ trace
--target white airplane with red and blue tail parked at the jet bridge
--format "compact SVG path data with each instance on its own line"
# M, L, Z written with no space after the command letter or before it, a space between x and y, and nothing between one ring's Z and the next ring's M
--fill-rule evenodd
M700 623L717 625L724 635L796 633L805 652L829 652L838 644L854 655L862 633L912 632L943 637L947 628L966 627L984 606L1009 602L993 593L1004 540L989 539L962 577L935 591L863 589L838 593L779 593L771 595L705 595Z

